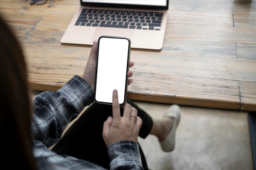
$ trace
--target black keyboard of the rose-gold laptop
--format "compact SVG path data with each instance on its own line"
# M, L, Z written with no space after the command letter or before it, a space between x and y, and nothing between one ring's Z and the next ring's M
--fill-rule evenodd
M162 16L162 12L83 9L75 25L160 30Z

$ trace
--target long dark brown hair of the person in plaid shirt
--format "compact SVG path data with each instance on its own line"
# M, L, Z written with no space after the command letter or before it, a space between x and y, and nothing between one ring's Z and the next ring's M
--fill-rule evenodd
M22 49L0 17L0 146L7 167L36 170L32 153L31 99ZM2 165L3 166L3 165Z

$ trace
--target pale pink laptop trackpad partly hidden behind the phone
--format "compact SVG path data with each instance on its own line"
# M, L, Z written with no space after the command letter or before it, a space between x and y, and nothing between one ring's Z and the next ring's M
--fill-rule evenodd
M101 35L126 37L132 41L133 34L134 34L133 29L115 29L115 28L98 27L94 32L91 42L93 42L94 40L97 41Z

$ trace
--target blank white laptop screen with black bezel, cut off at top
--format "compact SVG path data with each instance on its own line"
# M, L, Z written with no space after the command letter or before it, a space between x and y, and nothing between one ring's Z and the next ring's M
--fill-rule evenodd
M168 0L81 0L81 5L140 9L168 9Z

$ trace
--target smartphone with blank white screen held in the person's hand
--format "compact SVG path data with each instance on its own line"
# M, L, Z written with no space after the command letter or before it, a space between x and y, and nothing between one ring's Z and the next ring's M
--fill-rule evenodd
M95 102L112 104L112 93L117 89L119 104L126 103L130 44L130 39L125 37L99 37L94 83Z

